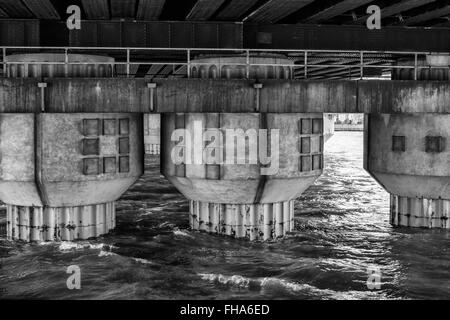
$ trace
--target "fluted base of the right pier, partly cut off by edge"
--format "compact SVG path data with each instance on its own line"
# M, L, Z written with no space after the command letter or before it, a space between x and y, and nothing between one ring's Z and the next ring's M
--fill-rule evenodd
M450 200L391 195L391 224L400 227L450 229Z

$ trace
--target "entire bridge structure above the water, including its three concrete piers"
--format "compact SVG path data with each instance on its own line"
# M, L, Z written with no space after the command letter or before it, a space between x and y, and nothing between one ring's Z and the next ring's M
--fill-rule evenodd
M193 229L292 231L294 199L324 169L323 113L368 114L365 168L391 194L392 224L449 228L449 15L448 0L0 0L8 235L114 228L114 201L143 173L143 113L162 114L161 170L191 200ZM185 141L209 129L217 139ZM229 130L279 143L246 163L221 141ZM206 142L215 160L198 163ZM228 149L235 164L216 158Z

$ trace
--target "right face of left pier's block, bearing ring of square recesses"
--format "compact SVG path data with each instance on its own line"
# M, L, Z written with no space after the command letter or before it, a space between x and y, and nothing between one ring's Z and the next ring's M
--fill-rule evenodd
M43 196L52 207L77 206L113 202L143 174L143 134L142 117L137 114L41 114L39 170ZM100 150L98 155L83 155L83 121L86 119L112 119L116 127L120 119L128 119L129 171L114 173L101 172L97 175L83 174L83 159L93 157L102 160L119 156L119 129L115 135L99 133ZM121 154L123 156L124 154ZM116 160L118 166L118 160Z

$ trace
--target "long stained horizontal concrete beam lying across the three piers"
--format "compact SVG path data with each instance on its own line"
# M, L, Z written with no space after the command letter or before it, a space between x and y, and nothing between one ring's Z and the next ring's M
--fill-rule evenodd
M159 79L153 86L131 78L44 79L46 88L39 82L1 79L0 113L150 113L152 105L158 113L450 113L450 82L439 81L264 80L262 88L225 79Z

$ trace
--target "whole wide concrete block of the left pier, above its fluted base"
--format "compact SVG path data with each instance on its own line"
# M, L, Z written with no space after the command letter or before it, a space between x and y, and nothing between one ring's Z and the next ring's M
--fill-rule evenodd
M83 122L113 120L115 134L86 135ZM120 119L129 133L119 134ZM104 127L104 125L103 125ZM103 129L104 130L104 129ZM119 140L129 139L128 152ZM99 140L98 153L84 154L83 141ZM119 159L129 169L119 170ZM114 172L84 172L85 159L114 158ZM100 170L100 169L99 169ZM137 114L3 114L0 115L0 200L17 206L75 207L117 200L143 173L142 117Z

